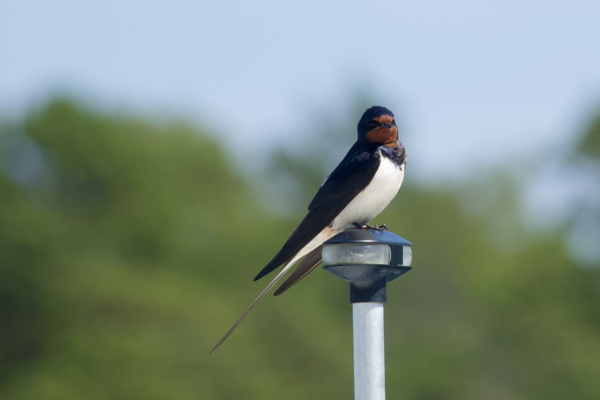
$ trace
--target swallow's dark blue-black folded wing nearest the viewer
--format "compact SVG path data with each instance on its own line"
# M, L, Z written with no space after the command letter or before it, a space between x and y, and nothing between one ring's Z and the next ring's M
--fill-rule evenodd
M281 264L292 260L298 251L331 224L341 210L371 182L380 162L377 147L366 149L364 144L355 143L344 160L319 188L308 206L308 214L254 280L262 278Z

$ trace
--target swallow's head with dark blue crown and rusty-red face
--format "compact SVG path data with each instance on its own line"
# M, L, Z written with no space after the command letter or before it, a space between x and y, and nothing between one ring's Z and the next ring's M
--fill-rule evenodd
M385 107L373 106L365 111L357 128L359 142L389 145L398 140L394 114Z

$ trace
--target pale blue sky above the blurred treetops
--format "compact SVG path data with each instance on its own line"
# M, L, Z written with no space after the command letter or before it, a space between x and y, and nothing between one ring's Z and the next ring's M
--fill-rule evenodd
M440 178L574 140L600 108L599 21L578 0L9 1L0 112L68 91L244 151L300 140L366 88L401 116L414 173Z

